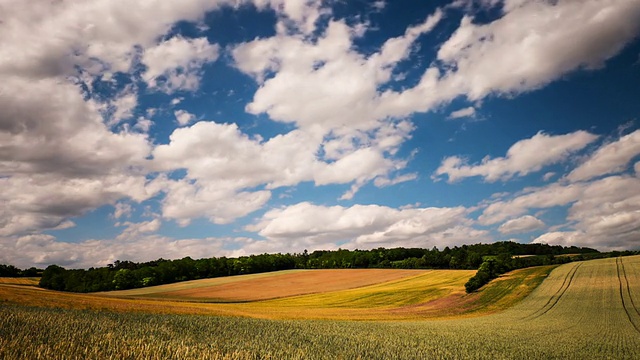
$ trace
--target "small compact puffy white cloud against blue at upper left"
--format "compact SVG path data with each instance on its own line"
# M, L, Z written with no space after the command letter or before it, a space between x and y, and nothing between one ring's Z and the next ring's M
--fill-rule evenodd
M200 85L204 64L218 58L219 46L206 38L186 39L180 36L147 48L142 62L147 66L144 79L150 88L166 93L194 91Z

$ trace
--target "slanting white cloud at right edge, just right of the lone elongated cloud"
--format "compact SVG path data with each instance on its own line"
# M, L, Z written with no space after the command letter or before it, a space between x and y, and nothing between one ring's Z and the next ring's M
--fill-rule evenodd
M594 177L625 171L629 162L640 154L640 130L600 147L569 175L569 181L584 181Z

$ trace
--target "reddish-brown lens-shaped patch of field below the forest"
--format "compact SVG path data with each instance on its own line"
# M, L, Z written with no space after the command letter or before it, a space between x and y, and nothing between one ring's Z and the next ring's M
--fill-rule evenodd
M165 299L248 302L354 289L421 275L428 271L390 269L306 270L211 287L158 292L146 296Z

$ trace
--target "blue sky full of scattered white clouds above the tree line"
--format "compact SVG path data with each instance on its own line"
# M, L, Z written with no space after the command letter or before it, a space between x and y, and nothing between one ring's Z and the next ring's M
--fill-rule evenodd
M0 0L0 263L640 249L640 0Z

